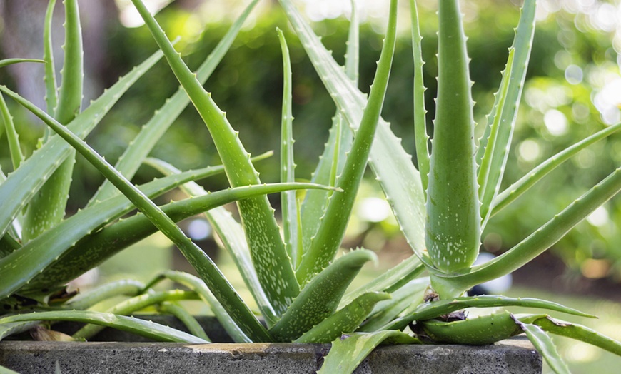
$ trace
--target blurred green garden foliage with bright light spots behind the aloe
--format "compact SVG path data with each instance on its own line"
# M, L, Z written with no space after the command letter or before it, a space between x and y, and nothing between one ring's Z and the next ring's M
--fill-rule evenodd
M469 4L476 6L476 9L466 9L466 33L472 58L471 78L475 81L473 97L478 103L475 117L478 123L484 123L493 103L493 92L500 84L500 71L504 69L519 11L510 1ZM428 129L433 131L431 123L437 71L435 9L430 2L423 2L422 5L419 10L423 19L421 32L424 38L423 56L427 61L424 66L425 84L428 87L425 101L429 111ZM189 16L188 11L173 3L161 11L158 19L165 29L171 31L169 36L173 38L184 36L186 28L183 25ZM206 89L213 92L218 106L227 112L229 121L240 132L241 141L248 151L259 154L278 149L282 63L276 26L283 29L293 64L296 172L298 178L310 178L327 139L335 106L318 81L298 39L287 27L281 11L267 11L255 22L251 29L240 33L207 81ZM605 126L601 108L598 110L595 106L597 92L605 89L605 85L615 77L621 79L617 63L621 60L612 48L610 33L588 29L583 26L585 22L584 16L555 11L537 24L504 186L520 178L538 162ZM348 21L343 18L328 19L315 26L325 45L333 50L337 61L342 62ZM196 67L203 61L227 29L228 24L209 24L198 39L181 41L182 53L188 64ZM374 31L372 25L363 24L360 38L360 88L368 91L382 36ZM104 86L110 86L118 76L156 49L144 27L126 29L121 24L113 24L107 40L108 65L99 77ZM410 35L406 30L398 40L383 117L403 138L405 149L414 154L411 61ZM2 81L7 81L6 74L6 71L0 71ZM140 126L176 89L176 80L168 66L161 62L118 102L89 137L89 143L109 160L116 160ZM617 98L617 102L621 103L621 97ZM30 118L23 111L12 106L12 103L9 105L14 109L20 140L26 153L29 153L42 128L30 124ZM621 109L616 110L618 116ZM615 108L612 108L607 118L614 120L614 116ZM4 134L0 133L0 142L4 141ZM0 165L5 173L11 170L6 148L0 147ZM208 132L193 108L188 108L178 118L152 156L183 169L218 163ZM493 218L483 236L485 249L498 252L510 248L529 235L532 228L547 221L554 212L567 206L588 186L597 183L618 166L621 166L621 136L612 136L591 146ZM277 158L263 161L258 169L263 181L277 180ZM74 180L81 181L81 186L75 183L71 197L74 208L79 208L92 193L84 191L94 191L101 183L101 176L80 162L76 173L78 176ZM145 168L137 180L144 181L152 176L151 171ZM226 186L223 178L210 183L213 183L208 186L211 189ZM600 210L597 216L581 223L557 243L553 251L565 261L570 272L596 278L607 276L621 281L619 243L621 199L615 198L605 205L605 211ZM591 257L600 261L585 261Z

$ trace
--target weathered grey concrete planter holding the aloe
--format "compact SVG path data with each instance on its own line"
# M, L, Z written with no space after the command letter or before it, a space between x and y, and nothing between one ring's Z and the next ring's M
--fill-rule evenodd
M151 318L155 319L155 318ZM226 340L211 319L201 323L214 340ZM174 325L174 323L171 323ZM68 326L68 327L67 327ZM212 330L215 326L216 330ZM210 328L211 327L211 328ZM74 327L65 326L71 332ZM219 329L219 330L218 330ZM211 334L210 334L211 333ZM99 339L122 340L104 331ZM315 373L327 344L0 342L0 365L19 373ZM540 355L528 340L514 338L479 347L387 345L375 349L355 373L541 373Z

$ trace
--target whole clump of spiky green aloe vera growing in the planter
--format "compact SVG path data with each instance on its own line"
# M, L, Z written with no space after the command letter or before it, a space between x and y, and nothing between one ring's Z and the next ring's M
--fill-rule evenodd
M353 371L382 342L487 344L518 333L530 338L557 373L565 373L567 368L547 333L583 340L621 355L619 342L547 315L501 312L463 318L464 314L458 313L465 308L517 305L592 317L546 300L464 296L473 285L510 273L535 258L621 189L617 170L515 248L493 261L473 266L481 233L496 212L515 201L560 162L621 128L618 124L590 136L545 161L507 191L500 191L530 56L535 0L526 0L522 6L503 81L485 124L485 134L478 142L474 139L475 104L470 93L472 82L459 3L458 0L439 1L438 105L431 147L425 130L418 12L415 0L410 0L418 165L412 163L388 123L380 117L395 50L398 1L390 1L383 49L366 97L358 89L355 2L352 2L352 23L343 69L292 2L280 0L338 110L330 138L313 174L313 183L296 183L291 64L286 38L278 30L274 37L281 42L284 81L281 183L273 184L261 181L254 166L261 156L251 158L234 130L235 124L229 123L211 93L203 89L203 82L231 46L257 1L251 1L194 73L143 2L132 0L160 51L80 111L79 11L75 0L66 0L67 48L61 95L56 97L56 78L54 69L50 69L49 37L45 38L43 60L47 66L46 111L36 108L6 86L0 86L4 97L24 106L49 127L41 147L24 159L8 108L4 100L0 100L14 160L12 173L8 176L0 173L0 304L9 310L6 315L0 315L0 339L29 330L36 321L79 320L159 340L205 343L208 336L196 325L196 320L176 304L178 300L200 299L210 306L229 335L238 342L333 342L321 369L325 373L335 368ZM46 35L49 35L54 5L55 1L51 0L45 20ZM156 111L116 166L112 166L83 139L116 100L162 56L181 86ZM22 62L26 60L3 60L0 67ZM188 103L192 103L203 118L222 166L180 171L165 161L146 158ZM62 186L70 183L71 173L67 170L74 162L75 152L97 168L106 182L83 210L62 218L66 203ZM156 168L163 178L134 186L129 180L142 163ZM363 248L337 256L367 163L393 207L413 256L370 283L348 290L362 266L376 260L372 251ZM208 192L194 182L214 173L226 173L231 188ZM163 206L151 201L176 187L190 198ZM296 189L309 191L300 200L293 191ZM281 193L282 200L283 235L265 196L277 192ZM54 202L41 197L46 193L54 196ZM221 208L232 201L237 203L241 223ZM39 214L43 212L40 206L51 213ZM119 219L134 209L139 213ZM176 226L176 221L199 213L205 214L231 254L264 324L216 263ZM56 218L51 219L51 216ZM156 231L161 231L178 246L196 269L198 278L166 271L146 285L121 281L77 296L63 292L64 284L72 278ZM423 270L428 272L428 277L421 277ZM189 290L154 291L153 286L163 279L180 283ZM99 301L118 294L127 295L128 299L108 313L88 310ZM192 335L124 316L148 305L158 305L160 310L177 315L188 325ZM36 313L28 313L31 310ZM96 330L88 325L73 338L89 338Z

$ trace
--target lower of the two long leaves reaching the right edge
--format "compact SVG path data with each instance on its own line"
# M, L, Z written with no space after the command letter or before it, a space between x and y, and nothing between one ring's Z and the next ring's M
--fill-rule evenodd
M500 278L539 256L567 234L577 223L621 191L621 168L617 168L597 186L573 201L562 212L516 244L509 251L487 263L474 266L468 273L432 274L432 282L445 288L468 290L474 285Z

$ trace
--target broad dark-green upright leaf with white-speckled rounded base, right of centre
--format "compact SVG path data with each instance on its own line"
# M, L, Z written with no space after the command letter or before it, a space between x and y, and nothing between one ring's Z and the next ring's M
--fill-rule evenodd
M425 243L433 264L441 271L452 272L474 263L481 230L472 82L458 0L440 1L438 16L438 100Z

